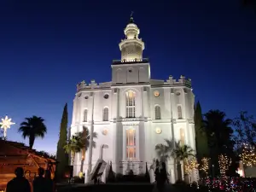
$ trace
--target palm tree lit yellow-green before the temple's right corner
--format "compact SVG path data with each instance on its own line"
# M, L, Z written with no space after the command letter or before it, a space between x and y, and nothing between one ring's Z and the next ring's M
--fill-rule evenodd
M190 157L195 157L194 150L188 145L182 145L179 141L178 143L176 143L176 148L173 150L172 155L174 155L179 161L179 166L183 163L184 181L186 183L189 183L189 176L185 172L185 166L187 160L189 160Z

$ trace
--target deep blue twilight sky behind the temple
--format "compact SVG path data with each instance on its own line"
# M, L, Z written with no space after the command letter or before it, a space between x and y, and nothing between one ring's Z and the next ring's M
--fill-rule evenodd
M55 151L65 102L71 119L76 84L111 80L131 10L153 79L189 77L203 112L256 114L256 15L238 0L2 0L0 117L17 123L9 139L23 142L20 122L42 116L48 134L34 147Z

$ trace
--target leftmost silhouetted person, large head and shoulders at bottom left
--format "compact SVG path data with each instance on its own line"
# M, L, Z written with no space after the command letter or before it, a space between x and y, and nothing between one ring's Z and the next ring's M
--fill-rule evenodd
M6 192L31 192L31 187L24 177L24 171L21 167L15 169L16 177L7 183Z

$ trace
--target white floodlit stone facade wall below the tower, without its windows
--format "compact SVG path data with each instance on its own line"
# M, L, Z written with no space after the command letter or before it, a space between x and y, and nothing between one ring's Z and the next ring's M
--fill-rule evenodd
M145 65L147 66L147 65ZM124 67L129 68L128 66ZM133 67L137 68L137 67ZM135 73L135 72L132 72ZM123 77L124 78L124 77ZM125 78L124 78L125 79ZM164 82L164 81L159 81ZM136 118L126 119L125 93L133 90L136 93ZM160 96L155 97L154 91ZM93 92L93 95L91 94ZM108 94L108 99L104 95ZM92 119L92 96L94 96L94 131L96 148L93 148L92 165L100 157L102 145L103 160L113 162L113 171L125 173L120 161L126 160L125 130L133 127L137 134L137 160L148 162L148 167L156 157L155 145L165 143L165 139L172 139L172 117L175 140L180 140L180 129L184 130L185 143L195 149L194 95L188 87L171 86L166 84L114 84L108 89L86 89L77 93L73 102L73 122L71 134L82 131L83 125L90 130ZM87 98L87 99L85 99ZM172 103L170 102L172 101ZM155 119L154 107L160 106L161 119ZM177 119L177 106L182 108L183 119ZM87 122L84 122L84 109L88 111ZM108 108L108 121L103 121L103 108ZM172 113L171 113L172 109ZM160 134L156 129L161 130ZM106 133L107 134L103 134ZM85 154L84 170L88 166L88 151ZM81 165L81 155L77 155L74 165L74 175L77 175ZM172 160L171 160L172 161ZM173 162L168 163L168 170L173 174ZM144 172L141 168L138 172Z

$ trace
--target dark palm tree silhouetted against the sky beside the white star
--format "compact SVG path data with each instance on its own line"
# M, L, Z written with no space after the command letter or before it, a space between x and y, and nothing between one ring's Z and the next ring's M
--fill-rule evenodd
M25 119L25 121L20 123L18 132L22 133L24 139L29 137L29 148L32 148L37 137L44 138L44 134L47 133L47 128L44 125L44 119L41 117L32 116L32 118Z

